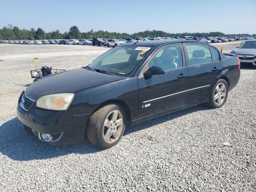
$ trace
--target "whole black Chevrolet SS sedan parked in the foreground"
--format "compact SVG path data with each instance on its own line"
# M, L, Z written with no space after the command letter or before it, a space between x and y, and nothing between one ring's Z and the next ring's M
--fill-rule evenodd
M197 104L219 108L240 78L240 62L193 40L117 46L90 65L41 78L22 92L24 130L50 144L117 144L137 124Z

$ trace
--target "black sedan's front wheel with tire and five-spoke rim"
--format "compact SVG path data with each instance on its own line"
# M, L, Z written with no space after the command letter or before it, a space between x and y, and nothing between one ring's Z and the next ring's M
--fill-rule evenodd
M116 116L113 116L113 114L116 114ZM119 122L120 125L116 125L116 122ZM122 138L125 122L126 116L122 106L116 104L103 106L90 116L86 130L88 140L99 148L110 148ZM105 125L109 125L109 127Z

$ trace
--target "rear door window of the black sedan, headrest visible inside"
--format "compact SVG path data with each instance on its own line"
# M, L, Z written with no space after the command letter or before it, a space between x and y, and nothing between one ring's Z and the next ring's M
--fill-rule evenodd
M210 47L206 44L186 44L189 66L212 62Z

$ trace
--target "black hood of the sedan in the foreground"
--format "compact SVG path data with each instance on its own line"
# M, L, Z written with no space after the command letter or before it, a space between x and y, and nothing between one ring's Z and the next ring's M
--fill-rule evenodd
M123 80L127 77L90 71L84 68L60 72L42 78L26 88L28 97L38 98L56 93L73 93L100 84Z

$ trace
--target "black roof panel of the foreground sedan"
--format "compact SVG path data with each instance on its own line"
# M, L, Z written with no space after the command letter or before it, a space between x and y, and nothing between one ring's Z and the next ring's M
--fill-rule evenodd
M126 43L122 44L120 46L164 46L168 44L175 44L175 43L190 43L190 42L200 42L204 43L201 41L196 41L196 40L152 40L152 41L138 41L138 42L133 42L133 43Z

